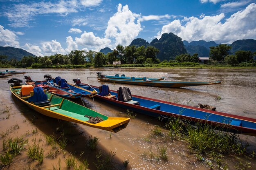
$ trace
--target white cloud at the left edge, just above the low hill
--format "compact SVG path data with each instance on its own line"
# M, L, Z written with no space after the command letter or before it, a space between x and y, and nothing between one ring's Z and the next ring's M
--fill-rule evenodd
M0 46L19 47L20 43L17 39L18 36L15 32L10 31L9 29L4 29L4 27L0 25Z

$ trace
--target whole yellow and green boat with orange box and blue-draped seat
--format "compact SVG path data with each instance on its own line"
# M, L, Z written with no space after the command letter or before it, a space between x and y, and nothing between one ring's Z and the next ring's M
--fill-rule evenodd
M19 82L19 80L17 81ZM118 132L126 128L130 121L129 118L107 117L62 97L47 92L45 94L42 87L34 88L32 85L19 85L11 85L11 93L30 108L49 117L111 132Z

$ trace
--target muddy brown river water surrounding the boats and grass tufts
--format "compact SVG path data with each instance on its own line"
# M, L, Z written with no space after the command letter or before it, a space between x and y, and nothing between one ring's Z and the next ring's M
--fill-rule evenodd
M4 69L1 69L4 70ZM110 89L117 90L123 84L111 84L99 82L96 72L100 71L105 75L125 74L127 77L165 77L170 81L191 81L191 82L215 82L221 84L209 86L195 86L186 88L159 88L136 85L125 85L130 88L132 94L160 99L169 102L176 102L189 106L209 104L215 106L217 111L256 118L256 69L180 69L180 68L90 68L90 69L9 69L26 71L26 76L33 80L42 80L45 74L52 77L61 76L68 82L74 78L81 78L81 82L94 86L108 84ZM23 79L24 75L13 75ZM88 78L87 78L88 77ZM116 152L114 156L113 169L123 170L208 170L209 166L197 161L195 154L191 153L186 142L171 141L163 136L153 134L156 126L164 126L158 119L136 113L135 118L130 119L127 128L117 133L83 126L67 121L60 121L41 115L27 108L20 101L15 99L9 91L7 78L0 79L0 132L6 132L14 124L19 128L9 132L11 136L27 134L29 141L35 139L45 150L45 155L51 152L46 145L44 135L60 133L65 131L67 147L59 152L56 157L45 156L43 163L38 166L36 161L28 159L26 150L22 151L15 159L9 169L23 170L31 163L35 169L54 169L54 165L61 161L61 169L65 170L65 158L72 153L76 159L88 159L89 169L97 169L97 158L95 155L99 150L105 153ZM74 102L83 103L97 112L112 117L127 117L126 110L93 99L75 99ZM38 132L32 133L37 129ZM167 134L167 130L162 128ZM99 138L97 150L90 150L87 147L89 137ZM248 150L256 151L256 137L240 135L241 139L249 143ZM0 153L3 153L2 137L0 137ZM168 160L156 160L157 147L167 147ZM128 167L124 168L123 162L128 160ZM256 160L247 157L225 157L223 163L227 163L230 170L235 170L237 162L251 163L256 167ZM7 167L2 167L7 169ZM1 167L0 167L1 169Z

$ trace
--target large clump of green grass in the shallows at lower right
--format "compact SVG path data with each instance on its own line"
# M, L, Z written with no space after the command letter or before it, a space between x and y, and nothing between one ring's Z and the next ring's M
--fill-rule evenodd
M189 144L191 151L197 155L199 161L206 163L210 168L214 161L218 168L222 165L223 155L241 155L246 152L239 136L228 132L229 127L212 127L200 121L192 122L177 118L169 118L166 124L171 139L183 139ZM226 130L226 131L225 131ZM164 151L161 150L160 153ZM164 156L164 154L162 154Z

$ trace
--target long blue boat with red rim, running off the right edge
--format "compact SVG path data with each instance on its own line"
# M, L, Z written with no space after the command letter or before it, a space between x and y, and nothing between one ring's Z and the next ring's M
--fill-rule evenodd
M128 102L125 102L121 87L118 91L112 91L109 90L106 85L97 87L80 83L74 86L86 89L85 93L91 91L91 93L88 93L88 97L93 93L97 93L94 98L101 99L110 104L114 104L115 106L129 109L137 113L153 117L179 117L180 119L186 119L193 122L200 121L203 124L209 124L211 126L225 127L225 130L229 130L229 132L256 136L256 119L253 118L131 95L131 93L129 93L130 90L127 90L126 93L130 94L131 99L128 100Z

